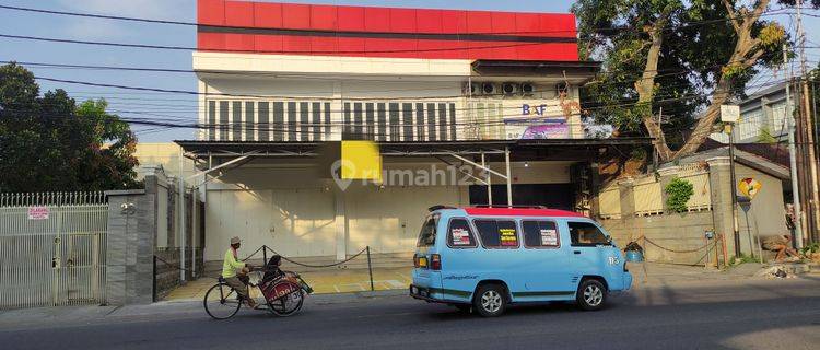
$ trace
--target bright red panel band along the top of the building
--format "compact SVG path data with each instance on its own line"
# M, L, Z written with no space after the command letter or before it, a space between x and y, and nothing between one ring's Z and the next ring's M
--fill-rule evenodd
M578 60L572 14L198 0L197 23L203 51Z

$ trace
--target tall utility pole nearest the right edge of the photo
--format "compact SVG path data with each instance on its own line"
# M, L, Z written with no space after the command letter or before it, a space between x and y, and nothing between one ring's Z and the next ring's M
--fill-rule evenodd
M799 55L800 55L800 88L803 90L803 98L800 98L800 115L803 116L806 133L806 145L804 147L805 150L808 151L808 159L809 159L809 172L810 172L810 188L808 190L811 190L811 200L809 203L808 210L811 210L811 215L809 218L813 219L813 225L809 225L809 228L813 226L815 230L818 230L820 228L820 194L818 194L818 174L817 174L817 155L815 153L815 124L812 121L812 115L811 115L811 107L809 103L809 83L808 83L808 71L806 69L806 33L803 28L803 0L797 0L797 47L799 48ZM811 241L815 236L815 232L809 232L808 238Z

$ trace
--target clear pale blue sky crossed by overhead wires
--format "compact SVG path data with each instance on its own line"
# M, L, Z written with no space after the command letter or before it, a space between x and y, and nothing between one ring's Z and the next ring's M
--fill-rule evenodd
M527 12L566 12L573 1L567 0L337 0L288 2L387 5L435 9L475 9ZM160 20L196 21L195 0L0 0L0 4L38 9L77 11ZM811 13L818 13L812 11ZM0 34L46 36L85 40L109 40L134 44L196 46L196 30L191 26L138 24L112 20L25 13L0 10ZM788 26L788 18L780 19ZM820 20L806 18L808 45L820 46ZM809 50L809 60L817 65L819 50ZM75 44L39 43L0 38L0 60L21 62L69 63L91 66L128 66L190 69L190 51L114 48ZM108 84L151 86L169 90L196 90L191 73L151 73L99 71L57 68L31 68L36 75L65 80L93 81ZM61 88L78 100L105 97L112 112L127 117L151 118L163 115L196 121L196 98L191 95L136 92L109 88L94 88L39 81L43 91ZM150 127L149 127L150 128ZM134 127L140 141L157 142L191 139L194 130L152 130Z

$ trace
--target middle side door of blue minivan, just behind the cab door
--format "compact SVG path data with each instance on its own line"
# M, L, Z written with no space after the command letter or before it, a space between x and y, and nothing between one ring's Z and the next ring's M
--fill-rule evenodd
M548 219L523 219L526 291L519 301L548 301L571 299L575 294L570 268L569 240L563 242L558 222ZM565 245L562 247L562 245Z

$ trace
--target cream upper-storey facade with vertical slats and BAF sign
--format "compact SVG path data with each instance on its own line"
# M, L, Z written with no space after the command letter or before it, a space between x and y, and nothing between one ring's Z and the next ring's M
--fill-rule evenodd
M284 59L284 56L280 56ZM309 57L309 61L317 60ZM226 60L225 66L235 60ZM466 67L469 67L466 65ZM293 69L292 67L290 69ZM295 69L294 69L295 70ZM361 72L358 72L361 74ZM581 118L564 115L563 105L577 105L577 88L564 100L557 81L531 82L529 95L471 95L467 77L436 80L394 69L394 77L249 78L247 74L201 75L200 91L213 96L200 102L201 140L223 141L442 141L522 138L584 138ZM263 74L262 74L263 77ZM496 89L527 78L476 78L473 84ZM534 132L532 124L551 125Z

